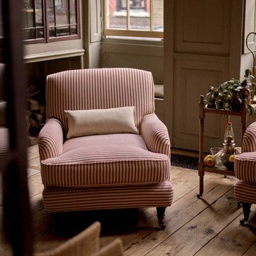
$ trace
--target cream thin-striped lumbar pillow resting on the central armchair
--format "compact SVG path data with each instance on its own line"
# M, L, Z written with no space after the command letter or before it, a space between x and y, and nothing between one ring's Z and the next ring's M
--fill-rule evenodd
M134 106L124 108L65 110L67 139L86 135L135 133Z

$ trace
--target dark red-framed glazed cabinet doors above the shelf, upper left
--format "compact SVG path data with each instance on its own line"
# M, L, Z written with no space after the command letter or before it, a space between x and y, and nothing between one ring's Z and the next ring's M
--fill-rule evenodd
M23 4L26 43L79 38L78 0L23 0Z

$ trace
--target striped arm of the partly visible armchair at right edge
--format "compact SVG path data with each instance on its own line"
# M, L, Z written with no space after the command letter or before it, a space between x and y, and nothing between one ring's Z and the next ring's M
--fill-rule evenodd
M243 137L242 152L256 151L256 122L250 124Z

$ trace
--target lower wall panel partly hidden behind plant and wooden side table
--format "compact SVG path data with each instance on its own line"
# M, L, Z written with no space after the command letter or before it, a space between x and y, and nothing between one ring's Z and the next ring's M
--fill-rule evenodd
M173 147L198 150L198 102L210 86L228 79L228 58L175 54ZM205 120L205 148L220 146L224 123L220 115Z

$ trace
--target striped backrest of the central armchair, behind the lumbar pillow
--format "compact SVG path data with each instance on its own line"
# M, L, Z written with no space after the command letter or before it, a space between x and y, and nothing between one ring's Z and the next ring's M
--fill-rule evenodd
M67 134L64 110L135 106L135 124L154 113L154 81L147 71L132 68L68 70L47 76L47 118L56 118Z

